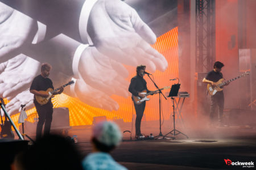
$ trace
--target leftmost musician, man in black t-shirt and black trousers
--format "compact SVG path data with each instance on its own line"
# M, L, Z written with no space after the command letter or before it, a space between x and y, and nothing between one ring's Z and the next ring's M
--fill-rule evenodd
M52 80L48 78L51 68L52 66L49 65L49 63L43 63L41 66L41 74L34 78L30 87L30 92L34 94L34 104L36 107L36 112L38 112L39 116L38 125L36 126L36 139L41 138L44 122L44 135L49 134L49 131L51 129L53 113L52 101L51 99L49 99L48 103L42 105L39 104L38 101L36 101L35 97L48 97L49 94L43 91L47 91L48 88L54 89L52 85ZM61 92L63 92L63 87L61 87L59 91L54 92L52 95L61 94Z

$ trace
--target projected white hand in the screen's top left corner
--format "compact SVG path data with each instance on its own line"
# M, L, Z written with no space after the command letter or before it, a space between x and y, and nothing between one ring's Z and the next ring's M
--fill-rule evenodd
M36 31L35 20L0 2L0 62L20 54Z

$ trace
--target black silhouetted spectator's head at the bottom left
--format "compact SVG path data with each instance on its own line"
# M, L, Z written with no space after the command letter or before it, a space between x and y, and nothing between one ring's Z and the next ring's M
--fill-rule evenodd
M15 156L14 170L82 170L82 156L73 141L60 135L45 135L28 150Z

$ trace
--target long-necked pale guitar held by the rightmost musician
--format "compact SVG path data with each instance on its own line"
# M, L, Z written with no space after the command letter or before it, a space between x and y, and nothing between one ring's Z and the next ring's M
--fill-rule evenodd
M250 74L249 72L245 72L245 73L243 73L243 74L241 74L241 75L239 75L239 76L237 76L237 77L235 77L233 79L230 79L230 80L228 80L226 82L224 82L224 79L220 79L220 80L218 80L218 82L216 82L217 86L212 86L212 84L208 83L207 84L207 90L208 90L209 94L213 96L213 95L216 94L216 92L222 91L223 90L223 86L225 86L226 83L233 82L234 80L236 80L238 78L241 78L243 76L247 76L249 74Z

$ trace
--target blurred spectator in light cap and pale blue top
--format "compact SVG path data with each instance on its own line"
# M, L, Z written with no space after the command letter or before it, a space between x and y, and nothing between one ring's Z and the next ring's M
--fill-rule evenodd
M109 152L121 142L121 132L114 122L100 122L93 127L92 153L82 160L82 166L90 169L127 169L115 162Z

